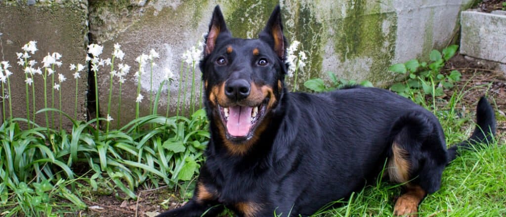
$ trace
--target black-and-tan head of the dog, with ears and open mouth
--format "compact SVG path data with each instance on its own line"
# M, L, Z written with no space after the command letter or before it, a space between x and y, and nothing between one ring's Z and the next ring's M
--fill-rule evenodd
M206 109L230 146L252 143L284 89L286 39L279 6L258 39L232 37L217 6L200 62Z

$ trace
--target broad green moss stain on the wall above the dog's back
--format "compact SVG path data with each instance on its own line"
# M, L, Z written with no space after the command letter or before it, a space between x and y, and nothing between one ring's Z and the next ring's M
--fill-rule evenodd
M366 79L373 83L387 80L391 75L385 72L395 56L395 12L381 12L381 3L378 2L355 0L346 4L347 17L334 23L335 52L340 55L341 62L370 58L372 63ZM383 31L384 22L389 25L387 32Z

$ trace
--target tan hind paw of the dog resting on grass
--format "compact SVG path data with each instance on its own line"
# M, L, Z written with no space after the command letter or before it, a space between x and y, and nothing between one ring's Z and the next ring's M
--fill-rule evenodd
M426 192L418 185L409 184L406 190L395 202L394 215L417 217L418 204L424 199Z

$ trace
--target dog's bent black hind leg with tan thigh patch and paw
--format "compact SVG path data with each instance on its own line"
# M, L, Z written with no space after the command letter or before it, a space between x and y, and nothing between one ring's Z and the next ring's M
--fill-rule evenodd
M405 184L394 215L417 216L418 204L441 185L446 162L443 132L435 117L413 111L396 121L391 138L387 173L391 181Z

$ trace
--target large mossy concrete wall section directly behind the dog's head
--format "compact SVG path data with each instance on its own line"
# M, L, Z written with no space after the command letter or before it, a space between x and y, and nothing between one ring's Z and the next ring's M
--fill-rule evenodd
M41 4L40 1L35 2L35 5ZM79 1L67 2L80 5ZM442 49L457 39L459 11L469 8L472 3L473 0L94 0L89 1L87 9L90 41L104 46L103 58L110 57L113 45L118 43L126 53L122 63L132 67L121 95L120 119L125 123L135 114L138 80L134 72L138 64L134 60L142 53L148 54L151 49L156 50L160 58L155 61L157 65L153 67L152 82L149 65L142 66L148 73L144 73L141 78L141 93L145 96L141 115L149 113L147 96L150 96L150 90L157 90L165 68L171 69L175 74L171 84L171 100L168 102L171 114L175 113L180 86L185 88L182 93L188 94L186 98L189 98L193 74L185 70L181 77L182 54L202 40L212 10L217 4L221 6L233 35L248 38L257 37L272 9L277 4L281 5L285 36L289 41L301 41L300 49L308 56L307 66L298 78L298 84L302 86L307 79L326 78L327 71L334 72L340 78L369 80L375 85L386 85L395 77L387 71L391 64L412 58L424 59L432 49ZM61 10L65 10L65 7ZM44 22L51 23L53 20ZM76 28L82 26L76 25ZM2 31L5 30L0 30ZM55 37L52 34L44 35L49 39ZM42 39L40 37L39 40ZM104 105L108 101L109 76L109 70L99 72L102 116L107 114L107 106ZM195 76L195 89L198 90L198 69ZM293 77L287 81L291 84ZM112 104L116 105L119 96L117 81L114 82L113 93L116 94L113 94ZM165 113L166 94L167 89L163 88L158 109L160 113ZM189 102L190 100L185 102L186 107ZM111 114L116 112L117 108L110 111Z

